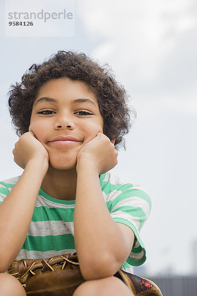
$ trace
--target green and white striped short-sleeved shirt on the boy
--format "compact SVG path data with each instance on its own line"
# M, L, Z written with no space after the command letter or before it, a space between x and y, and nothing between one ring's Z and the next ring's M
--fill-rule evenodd
M0 203L19 177L0 182ZM126 183L112 173L100 176L103 197L115 222L129 226L135 241L121 269L132 272L146 260L146 250L140 230L151 210L151 200L140 185ZM36 200L34 214L24 245L17 259L41 259L76 252L74 241L75 200L59 200L42 188Z

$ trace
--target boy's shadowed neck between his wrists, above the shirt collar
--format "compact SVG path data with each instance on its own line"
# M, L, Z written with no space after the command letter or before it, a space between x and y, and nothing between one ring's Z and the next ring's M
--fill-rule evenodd
M56 170L50 165L41 184L41 188L48 195L61 200L76 199L76 186L76 169Z

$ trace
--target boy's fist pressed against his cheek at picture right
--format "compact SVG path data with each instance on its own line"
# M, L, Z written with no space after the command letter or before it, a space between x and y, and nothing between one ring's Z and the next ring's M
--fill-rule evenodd
M84 166L93 164L99 175L104 174L117 165L117 156L118 152L114 144L107 136L99 132L79 150L76 170L78 171L80 163Z

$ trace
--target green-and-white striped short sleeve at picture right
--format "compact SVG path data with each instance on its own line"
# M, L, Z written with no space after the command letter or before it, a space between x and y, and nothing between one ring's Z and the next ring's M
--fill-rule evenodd
M123 264L123 269L127 271L130 265L139 266L146 261L140 230L150 215L151 199L141 185L125 183L111 173L104 175L102 181L106 183L103 184L103 195L111 217L129 226L135 234L133 248Z

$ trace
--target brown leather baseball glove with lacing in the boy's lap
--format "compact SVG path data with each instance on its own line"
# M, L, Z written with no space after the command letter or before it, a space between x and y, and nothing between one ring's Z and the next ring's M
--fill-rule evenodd
M7 273L16 277L28 296L72 296L83 279L77 253L54 256L49 259L15 260ZM162 296L150 280L118 270L115 274L134 296Z

